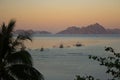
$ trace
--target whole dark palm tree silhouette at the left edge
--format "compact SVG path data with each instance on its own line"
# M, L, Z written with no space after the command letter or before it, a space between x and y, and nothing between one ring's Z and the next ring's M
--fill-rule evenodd
M0 30L0 80L44 80L42 74L33 68L32 57L25 50L23 41L31 40L29 34L13 37L15 20Z

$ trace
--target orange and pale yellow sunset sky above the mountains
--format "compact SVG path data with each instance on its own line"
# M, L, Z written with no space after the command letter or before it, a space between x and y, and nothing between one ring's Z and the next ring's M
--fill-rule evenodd
M120 0L0 0L0 25L16 20L16 29L58 32L99 23L120 28Z

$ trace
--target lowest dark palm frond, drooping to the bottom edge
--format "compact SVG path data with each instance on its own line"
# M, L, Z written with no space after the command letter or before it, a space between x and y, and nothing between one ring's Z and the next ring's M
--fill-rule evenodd
M18 80L44 80L43 75L32 66L18 64L9 66L7 70Z

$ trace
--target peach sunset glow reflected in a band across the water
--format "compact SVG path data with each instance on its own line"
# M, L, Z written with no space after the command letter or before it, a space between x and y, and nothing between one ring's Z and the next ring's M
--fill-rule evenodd
M90 45L104 45L111 44L112 42L119 42L119 39L106 39L106 38L88 38L88 37L35 37L33 38L32 43L27 42L27 47L32 49L44 48L53 48L59 47L60 44L63 44L65 47L73 47L76 43L81 43L84 46Z

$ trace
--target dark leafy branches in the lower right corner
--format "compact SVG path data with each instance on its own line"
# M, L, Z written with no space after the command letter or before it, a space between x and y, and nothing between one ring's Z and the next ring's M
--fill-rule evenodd
M106 74L111 74L112 78L108 80L120 80L120 53L116 53L112 47L105 47L105 51L112 54L107 57L89 55L89 59L96 60L101 66L107 68ZM76 76L75 80L99 80L93 76Z

